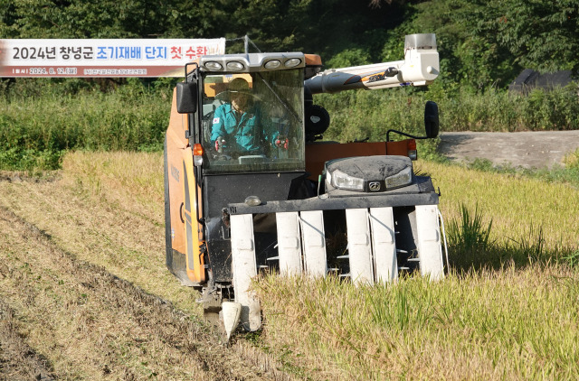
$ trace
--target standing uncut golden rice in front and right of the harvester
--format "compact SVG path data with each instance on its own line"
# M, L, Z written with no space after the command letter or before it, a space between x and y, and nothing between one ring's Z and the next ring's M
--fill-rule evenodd
M417 167L441 189L447 228L464 233L449 234L446 278L355 287L266 277L260 344L316 369L314 379L577 379L579 191Z

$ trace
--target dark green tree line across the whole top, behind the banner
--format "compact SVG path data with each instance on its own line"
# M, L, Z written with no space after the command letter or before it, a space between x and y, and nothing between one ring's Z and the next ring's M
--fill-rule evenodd
M3 38L236 38L322 54L327 66L400 60L436 33L444 88L504 88L523 68L579 69L579 0L4 0ZM241 43L230 43L236 50Z

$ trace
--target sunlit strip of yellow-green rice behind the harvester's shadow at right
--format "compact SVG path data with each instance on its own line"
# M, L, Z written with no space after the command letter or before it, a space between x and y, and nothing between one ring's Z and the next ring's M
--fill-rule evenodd
M578 191L569 184L525 175L466 169L456 165L419 161L416 167L432 174L441 189L441 211L460 220L460 204L479 206L484 223L492 219L489 242L520 241L542 228L547 248L578 246ZM535 227L531 231L530 227Z

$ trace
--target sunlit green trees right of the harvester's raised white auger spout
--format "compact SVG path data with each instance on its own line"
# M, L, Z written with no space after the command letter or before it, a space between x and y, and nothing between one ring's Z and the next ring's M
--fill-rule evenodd
M441 81L504 88L524 68L578 70L579 1L430 0L400 29L436 33Z

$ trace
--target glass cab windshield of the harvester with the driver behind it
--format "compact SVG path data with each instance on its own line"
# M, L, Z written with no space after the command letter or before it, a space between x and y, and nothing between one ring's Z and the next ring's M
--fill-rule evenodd
M303 171L303 70L204 77L205 173Z

